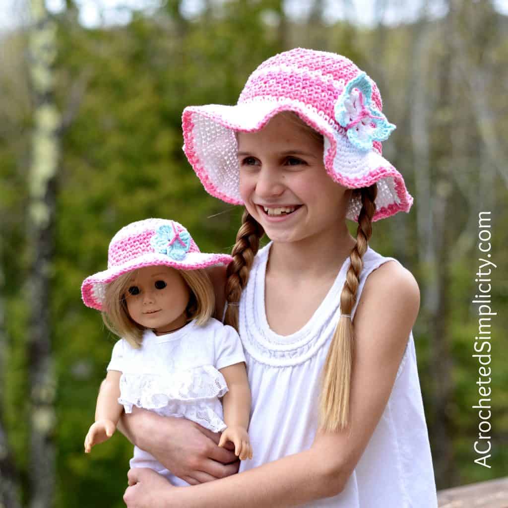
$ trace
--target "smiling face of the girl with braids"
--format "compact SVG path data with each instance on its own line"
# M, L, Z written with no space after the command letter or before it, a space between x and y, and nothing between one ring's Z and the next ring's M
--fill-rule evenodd
M323 143L275 115L258 132L238 133L240 195L273 241L294 242L344 227L352 190L335 183Z

